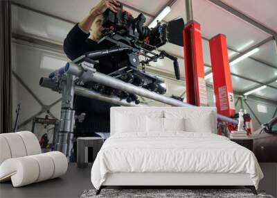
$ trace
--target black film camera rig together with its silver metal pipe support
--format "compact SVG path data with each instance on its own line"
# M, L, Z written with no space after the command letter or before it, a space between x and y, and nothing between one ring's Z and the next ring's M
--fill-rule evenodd
M61 117L55 150L62 151L68 158L73 148L73 130L75 127L75 115L73 108L74 95L107 101L120 106L141 106L137 95L160 101L171 106L191 106L163 96L166 89L163 81L156 76L146 74L139 70L139 64L148 64L161 58L170 58L173 61L176 78L179 79L179 65L177 58L170 56L166 51L158 51L157 47L167 42L167 26L159 22L151 30L143 26L145 17L140 14L134 19L123 10L120 5L118 13L107 10L104 14L105 31L99 41L107 46L106 50L92 51L76 58L66 64L65 67L52 72L48 78L42 77L39 85L50 88L62 94ZM154 50L158 52L154 52ZM126 62L120 65L120 69L111 74L97 72L98 58L109 56L111 53L123 53ZM145 60L139 60L139 56L145 56ZM92 83L92 87L84 88L82 85ZM233 119L218 115L220 119Z

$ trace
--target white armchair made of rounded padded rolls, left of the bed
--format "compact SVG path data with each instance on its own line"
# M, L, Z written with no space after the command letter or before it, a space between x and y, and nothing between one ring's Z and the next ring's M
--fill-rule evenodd
M64 154L41 154L37 137L29 131L0 134L0 181L12 180L14 187L53 179L66 173Z

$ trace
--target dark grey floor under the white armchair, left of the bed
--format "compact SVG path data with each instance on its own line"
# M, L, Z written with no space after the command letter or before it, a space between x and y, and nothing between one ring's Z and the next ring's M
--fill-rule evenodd
M77 164L69 164L66 174L60 178L33 183L20 188L13 188L12 183L0 184L0 197L80 197L82 192L93 188L91 184L91 166L84 169Z

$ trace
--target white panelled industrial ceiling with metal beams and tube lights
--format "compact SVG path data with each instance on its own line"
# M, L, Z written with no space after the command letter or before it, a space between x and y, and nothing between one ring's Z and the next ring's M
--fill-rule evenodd
M163 19L183 18L186 22L185 0L131 1L123 0L134 17L143 12L150 24L166 6L171 12ZM97 0L12 0L12 32L15 38L34 38L52 43L59 49L73 24L80 22ZM237 94L256 90L251 95L277 101L277 17L276 0L231 1L193 0L193 18L201 24L206 83L213 85L208 40L218 33L226 35L230 61L258 48L256 53L231 66L233 89ZM161 47L179 58L184 76L184 50L175 44ZM150 68L173 76L168 60ZM151 71L152 71L151 70ZM209 77L210 76L210 77ZM183 78L184 80L184 78ZM184 91L185 84L182 86ZM174 88L172 88L174 89Z

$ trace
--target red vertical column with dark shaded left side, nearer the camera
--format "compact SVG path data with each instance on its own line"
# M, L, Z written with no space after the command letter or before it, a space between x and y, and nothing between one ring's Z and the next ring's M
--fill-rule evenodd
M195 106L208 104L202 37L200 24L191 21L184 27L184 57L186 78L186 101Z

